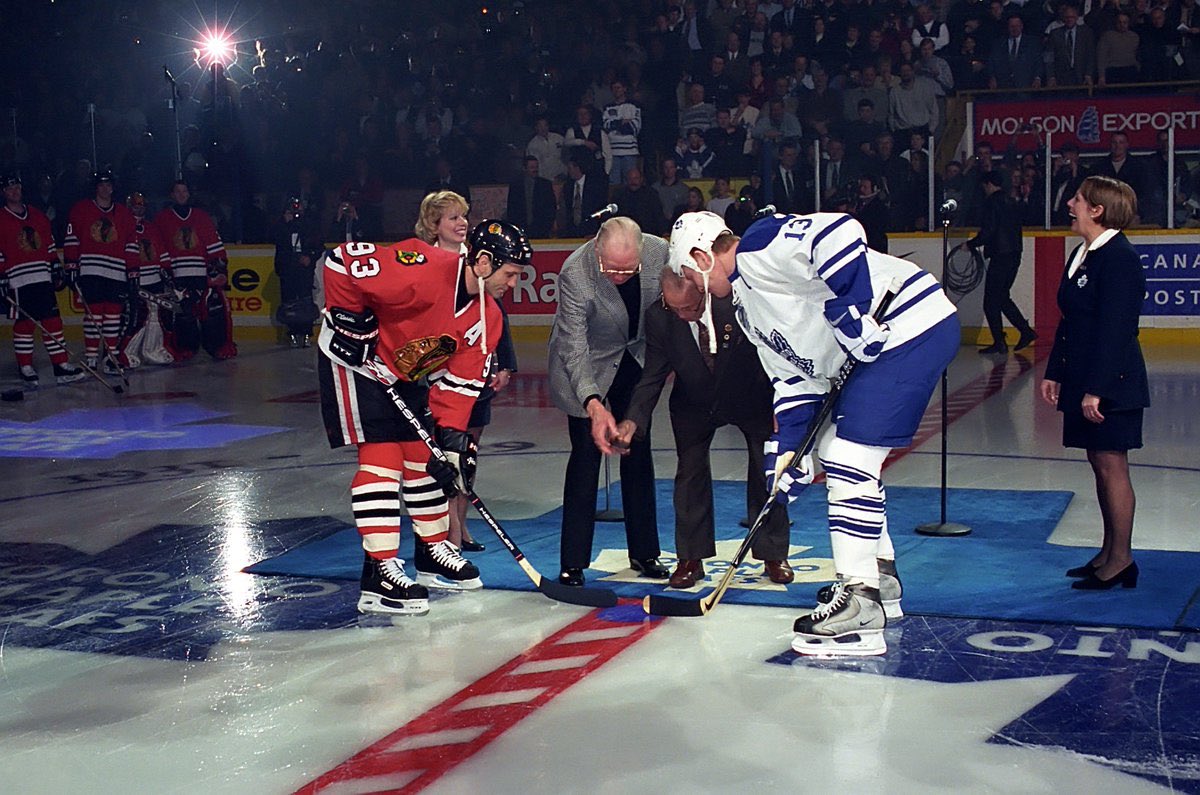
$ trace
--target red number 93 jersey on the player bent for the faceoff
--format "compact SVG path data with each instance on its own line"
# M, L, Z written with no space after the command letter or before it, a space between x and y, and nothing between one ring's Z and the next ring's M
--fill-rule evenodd
M466 430L484 389L504 317L487 295L468 295L463 259L422 240L346 243L325 257L325 306L379 319L376 355L402 381L427 376L438 425ZM482 317L481 317L481 306ZM486 317L486 334L485 334Z

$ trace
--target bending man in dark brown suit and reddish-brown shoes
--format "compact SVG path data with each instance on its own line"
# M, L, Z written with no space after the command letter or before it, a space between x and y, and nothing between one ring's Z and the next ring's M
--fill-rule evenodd
M667 376L671 429L679 455L674 479L676 554L671 587L690 588L704 578L703 558L716 555L713 522L713 470L708 450L722 425L736 425L746 441L746 510L758 515L767 501L763 444L772 431L772 385L754 343L738 325L733 299L713 299L716 353L709 353L708 330L700 318L704 297L683 276L662 271L662 301L646 312L646 369L634 390L629 413L618 425L623 444L641 438L650 424ZM787 563L787 512L776 506L755 540L754 556L763 561L772 582L791 582Z

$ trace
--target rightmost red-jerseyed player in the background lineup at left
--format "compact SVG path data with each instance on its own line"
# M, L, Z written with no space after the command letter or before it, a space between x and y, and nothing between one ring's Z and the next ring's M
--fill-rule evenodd
M176 361L204 349L214 359L238 355L233 341L233 313L226 297L229 263L217 227L204 210L191 207L187 183L170 189L173 204L155 216L170 258L172 280L182 311L174 317L167 347Z

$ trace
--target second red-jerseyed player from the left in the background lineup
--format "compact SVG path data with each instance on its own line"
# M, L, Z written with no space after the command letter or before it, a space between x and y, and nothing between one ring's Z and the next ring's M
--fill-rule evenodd
M125 246L133 235L133 216L113 199L113 173L92 175L96 196L76 202L67 220L64 243L67 279L74 280L85 301L84 353L88 366L100 366L100 346L116 355L121 334L121 306L128 289ZM104 363L106 372L115 372Z

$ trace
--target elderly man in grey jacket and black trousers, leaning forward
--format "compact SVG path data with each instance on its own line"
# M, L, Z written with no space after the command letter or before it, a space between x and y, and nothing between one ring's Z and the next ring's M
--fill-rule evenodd
M611 453L646 357L643 316L659 292L667 244L632 219L608 219L580 246L558 277L558 312L550 335L550 394L566 412L571 456L563 484L560 545L564 585L582 586L592 562L600 454ZM608 402L608 407L605 406ZM630 567L666 579L658 557L654 462L649 434L620 460L620 496Z

